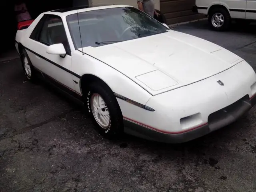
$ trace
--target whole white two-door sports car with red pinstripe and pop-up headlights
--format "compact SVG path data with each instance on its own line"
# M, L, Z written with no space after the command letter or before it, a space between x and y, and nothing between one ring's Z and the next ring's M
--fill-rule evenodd
M42 74L83 101L109 138L186 142L234 122L256 100L246 61L132 6L44 12L17 31L16 48L29 80Z

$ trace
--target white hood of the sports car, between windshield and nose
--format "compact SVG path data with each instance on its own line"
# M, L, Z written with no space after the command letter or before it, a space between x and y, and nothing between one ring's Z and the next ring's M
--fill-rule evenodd
M216 44L173 30L83 51L152 95L198 82L242 61Z

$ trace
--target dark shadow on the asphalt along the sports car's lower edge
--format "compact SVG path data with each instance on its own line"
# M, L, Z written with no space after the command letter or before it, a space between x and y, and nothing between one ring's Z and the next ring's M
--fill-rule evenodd
M43 86L46 90L49 92L52 92L53 94L56 94L60 99L62 99L65 102L68 102L70 104L70 107L74 108L74 110L77 110L84 116L86 119L90 121L90 116L88 113L84 110L83 106L77 104L74 102L74 100L70 99L69 97L63 96L63 92L59 91L58 89L55 89L53 86L48 84L47 82L44 82L43 80L39 80L37 84L40 84ZM253 110L253 109L252 109ZM127 148L131 147L134 150L143 148L144 150L150 152L158 152L161 153L166 152L170 153L171 151L176 152L182 152L184 150L190 151L190 153L198 154L198 152L204 152L208 151L209 148L213 150L213 148L216 148L216 146L224 146L226 143L232 143L236 142L236 140L243 140L244 139L244 132L249 133L251 130L253 130L252 126L252 120L251 118L254 115L245 115L236 122L221 128L219 130L216 130L210 134L207 134L205 136L202 136L200 138L191 140L189 142L180 143L180 144L168 144L168 143L162 143L162 142L156 142L151 140L146 140L143 138L138 138L136 136L123 134L122 137L116 140L108 140L107 138L102 138L104 142L112 145L112 146L119 146L120 148ZM79 120L78 120L79 121ZM90 130L83 130L82 127L74 130L67 129L68 132L72 133L75 137L81 138L83 137L86 132L90 132L90 135L93 137L101 137L99 136L99 133L96 131L96 128L91 122L88 122L90 124ZM90 138L88 138L90 140ZM217 147L218 148L218 147ZM216 148L216 149L217 149ZM146 152L145 151L145 152Z

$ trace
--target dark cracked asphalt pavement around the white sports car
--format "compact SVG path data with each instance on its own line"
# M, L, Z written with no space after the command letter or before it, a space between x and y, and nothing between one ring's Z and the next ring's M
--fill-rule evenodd
M176 26L227 48L256 70L256 28L214 32L206 21ZM172 45L170 45L172 46ZM1 192L255 192L256 108L184 144L102 138L80 106L20 60L0 62Z

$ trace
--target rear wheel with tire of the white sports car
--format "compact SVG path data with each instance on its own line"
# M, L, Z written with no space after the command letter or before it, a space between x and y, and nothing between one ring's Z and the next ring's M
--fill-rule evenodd
M34 81L35 80L34 68L25 49L22 49L20 59L21 59L22 68L26 78L30 81Z

